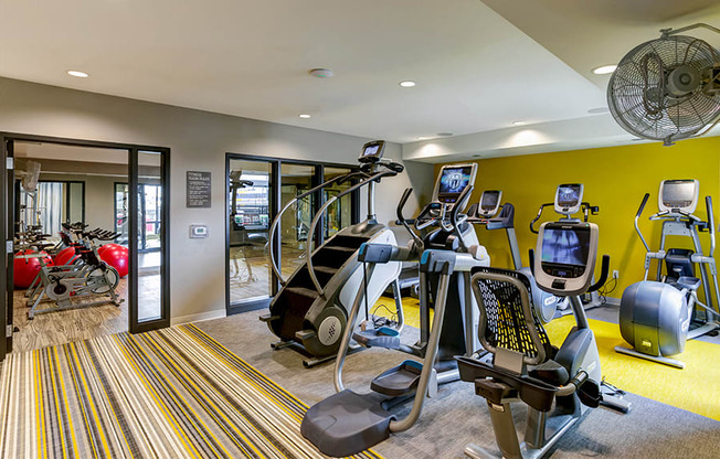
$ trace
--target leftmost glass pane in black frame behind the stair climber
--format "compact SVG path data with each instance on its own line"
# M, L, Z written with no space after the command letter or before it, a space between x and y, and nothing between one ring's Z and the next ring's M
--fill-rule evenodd
M227 168L229 305L267 302L274 293L268 244L273 164L231 159Z

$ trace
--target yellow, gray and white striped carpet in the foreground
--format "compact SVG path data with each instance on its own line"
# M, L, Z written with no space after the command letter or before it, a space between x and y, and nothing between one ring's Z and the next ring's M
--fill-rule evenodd
M0 453L321 458L299 434L306 409L194 325L120 333L8 355Z

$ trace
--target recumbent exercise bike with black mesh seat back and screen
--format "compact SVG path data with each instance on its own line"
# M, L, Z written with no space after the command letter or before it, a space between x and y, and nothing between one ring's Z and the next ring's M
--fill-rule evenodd
M597 345L579 297L601 288L607 278L610 257L605 255L601 279L592 284L597 236L593 223L562 220L540 226L540 256L531 261L536 281L549 293L568 297L576 322L560 349L550 343L532 308L531 284L525 274L474 269L472 288L480 308L478 334L493 360L457 359L462 380L474 383L475 393L487 401L500 455L468 445L466 456L541 458L589 408L603 404L622 413L629 410L629 403L600 384ZM523 441L518 439L512 416L511 403L516 402L527 405Z

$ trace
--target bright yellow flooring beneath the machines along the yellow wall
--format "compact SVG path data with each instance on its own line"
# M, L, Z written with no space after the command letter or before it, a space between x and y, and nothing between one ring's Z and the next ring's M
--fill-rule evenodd
M403 298L405 323L420 325L420 302L414 298ZM388 317L385 305L394 312L394 301L381 298L373 310ZM431 310L432 313L432 310ZM546 324L552 343L562 343L574 318L565 316ZM661 365L643 359L618 354L616 345L628 344L620 334L616 323L589 320L595 333L600 361L605 380L627 392L652 398L688 412L720 420L720 345L702 341L688 341L685 352L678 355L686 366L684 370Z

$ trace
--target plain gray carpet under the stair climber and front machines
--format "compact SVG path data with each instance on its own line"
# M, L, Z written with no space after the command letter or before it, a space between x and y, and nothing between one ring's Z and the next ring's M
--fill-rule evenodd
M276 337L257 320L265 312L246 312L197 325L306 404L313 405L333 394L332 363L308 370L293 350L269 348ZM370 392L373 376L405 357L399 352L378 349L352 354L345 365L346 387ZM720 383L709 381L708 384ZM631 414L621 415L605 408L591 410L560 439L549 457L720 457L720 423L634 394L626 397L633 403ZM522 404L516 405L515 416L522 423ZM399 414L409 409L403 406ZM437 397L425 403L413 428L391 435L374 449L389 459L463 458L468 442L496 450L484 399L474 394L472 384L456 382L442 386Z

